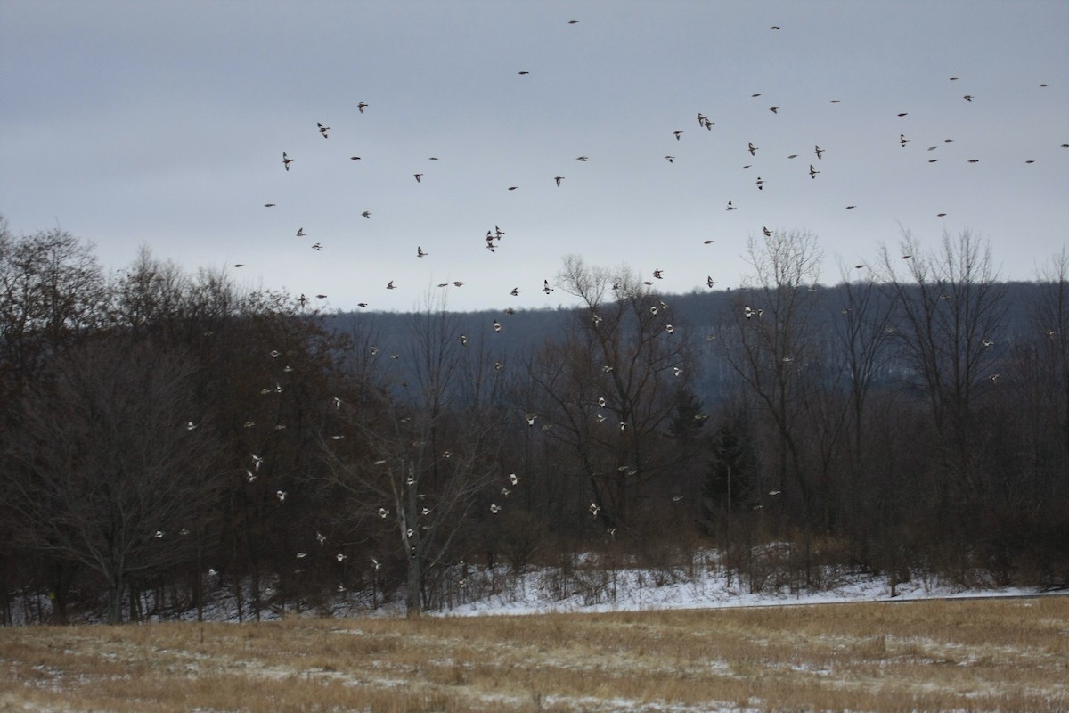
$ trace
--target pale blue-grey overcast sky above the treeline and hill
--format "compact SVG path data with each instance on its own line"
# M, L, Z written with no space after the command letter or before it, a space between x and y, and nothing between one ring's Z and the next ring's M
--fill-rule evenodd
M0 214L327 309L570 304L570 253L728 286L765 227L825 283L903 229L1027 280L1069 236L1067 37L1066 0L0 0Z

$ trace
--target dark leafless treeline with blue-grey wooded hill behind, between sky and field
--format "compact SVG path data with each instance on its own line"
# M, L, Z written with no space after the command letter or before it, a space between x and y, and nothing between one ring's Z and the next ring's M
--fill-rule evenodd
M823 288L816 238L774 233L701 297L572 257L574 310L431 294L399 338L0 226L0 617L418 613L475 568L698 548L753 589L1066 586L1069 258L1021 305L969 233L901 249Z

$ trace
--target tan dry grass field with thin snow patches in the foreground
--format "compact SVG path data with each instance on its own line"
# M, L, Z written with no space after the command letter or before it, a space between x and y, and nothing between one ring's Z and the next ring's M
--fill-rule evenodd
M0 711L1066 711L1069 598L0 630Z

